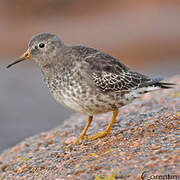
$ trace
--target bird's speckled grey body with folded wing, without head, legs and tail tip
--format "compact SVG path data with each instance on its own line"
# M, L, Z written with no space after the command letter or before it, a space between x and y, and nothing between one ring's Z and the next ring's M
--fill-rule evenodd
M157 83L93 48L72 46L63 53L63 59L42 67L42 72L54 98L74 111L88 115L113 111L146 91L137 89Z

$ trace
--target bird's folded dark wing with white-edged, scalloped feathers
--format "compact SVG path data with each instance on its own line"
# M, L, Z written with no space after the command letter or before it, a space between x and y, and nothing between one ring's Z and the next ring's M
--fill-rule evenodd
M88 75L103 91L130 91L157 83L148 76L132 72L118 59L84 46L74 47L80 52L80 61L88 64Z

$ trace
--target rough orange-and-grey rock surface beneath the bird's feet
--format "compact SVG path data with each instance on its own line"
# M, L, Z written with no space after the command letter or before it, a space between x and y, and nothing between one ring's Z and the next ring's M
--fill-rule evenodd
M180 76L168 82L177 85L120 108L111 135L105 138L75 145L87 121L87 116L75 115L4 151L0 180L180 178ZM96 116L88 135L104 130L111 115Z

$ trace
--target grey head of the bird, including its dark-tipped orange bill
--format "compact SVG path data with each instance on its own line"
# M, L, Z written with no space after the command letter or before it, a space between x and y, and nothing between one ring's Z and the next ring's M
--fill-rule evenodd
M31 38L27 51L7 66L11 67L24 60L34 60L40 65L50 64L64 48L64 42L55 34L40 33Z

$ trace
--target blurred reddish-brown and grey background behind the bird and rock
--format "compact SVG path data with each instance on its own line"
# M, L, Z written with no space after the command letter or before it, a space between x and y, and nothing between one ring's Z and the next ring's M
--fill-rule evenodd
M36 33L103 50L147 75L180 72L179 0L0 0L0 27L0 151L72 114L50 96L34 62L5 68Z

